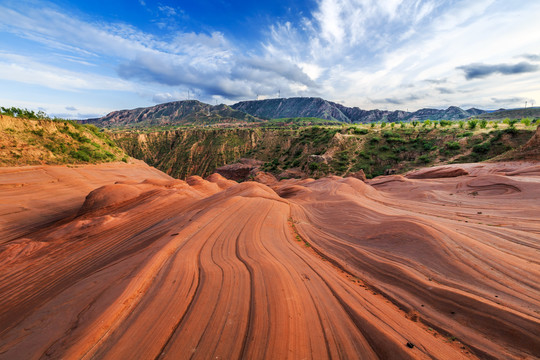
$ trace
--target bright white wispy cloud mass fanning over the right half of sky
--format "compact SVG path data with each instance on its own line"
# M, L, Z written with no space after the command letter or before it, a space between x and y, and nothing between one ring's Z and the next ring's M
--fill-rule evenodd
M265 48L290 56L310 76L310 68L319 69L312 76L321 86L318 92L348 104L373 108L380 103L371 99L388 99L394 109L403 104L443 107L476 98L478 106L493 107L492 94L502 88L540 99L537 86L522 82L540 83L539 74L484 79L473 90L457 68L513 63L512 58L530 52L540 43L534 20L539 12L540 4L526 1L509 7L496 0L320 0L314 19L304 21L307 41L296 34L289 37L296 43L280 47L278 39L298 29L278 25ZM430 79L448 79L444 91L425 81Z

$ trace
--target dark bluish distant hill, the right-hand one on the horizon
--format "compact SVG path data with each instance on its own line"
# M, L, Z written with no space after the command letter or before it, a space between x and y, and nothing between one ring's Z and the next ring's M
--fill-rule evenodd
M402 110L362 110L358 107L347 107L321 98L307 97L242 101L231 107L265 119L316 117L346 123L423 121L427 119L458 120L485 112L484 110L474 108L463 110L456 106L451 106L446 110L420 109L415 112Z

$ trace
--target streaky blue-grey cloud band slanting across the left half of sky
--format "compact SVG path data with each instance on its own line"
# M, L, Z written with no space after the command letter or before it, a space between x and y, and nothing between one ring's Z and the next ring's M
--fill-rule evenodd
M176 14L175 9L167 6L160 6L159 10L168 16ZM199 89L205 97L219 95L229 99L253 97L260 91L274 91L272 88L286 90L295 83L316 88L290 59L243 55L220 32L177 32L172 40L163 41L130 25L89 23L51 8L20 11L0 6L0 21L8 31L76 55L79 62L110 59L120 78L130 82ZM80 59L84 55L86 58ZM17 73L24 71L15 68ZM93 86L76 79L74 74L54 76L54 72L39 64L36 68L41 70L34 83L68 89ZM29 82L34 77L21 79ZM125 84L126 81L119 80L117 86L123 88Z

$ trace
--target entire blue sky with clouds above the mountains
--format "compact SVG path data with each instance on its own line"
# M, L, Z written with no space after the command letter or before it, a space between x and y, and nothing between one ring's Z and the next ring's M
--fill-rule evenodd
M0 105L70 118L196 98L540 105L530 0L0 0Z

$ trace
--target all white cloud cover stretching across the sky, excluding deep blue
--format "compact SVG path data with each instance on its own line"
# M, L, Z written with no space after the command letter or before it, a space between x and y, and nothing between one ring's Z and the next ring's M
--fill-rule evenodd
M209 101L272 97L281 90L283 96L323 96L363 108L387 104L414 109L474 101L493 107L493 99L535 97L540 102L537 72L468 81L459 70L474 63L516 63L524 56L534 61L540 43L540 3L316 4L298 22L271 26L247 52L219 31L171 32L158 38L127 24L83 21L47 5L0 5L0 30L59 55L57 63L45 64L39 58L2 54L9 56L0 60L0 78L70 91L132 91L148 101L183 99L191 89ZM182 15L179 9L159 7L164 18ZM79 69L64 68L66 61ZM111 74L111 67L119 77ZM429 81L442 79L444 85Z

